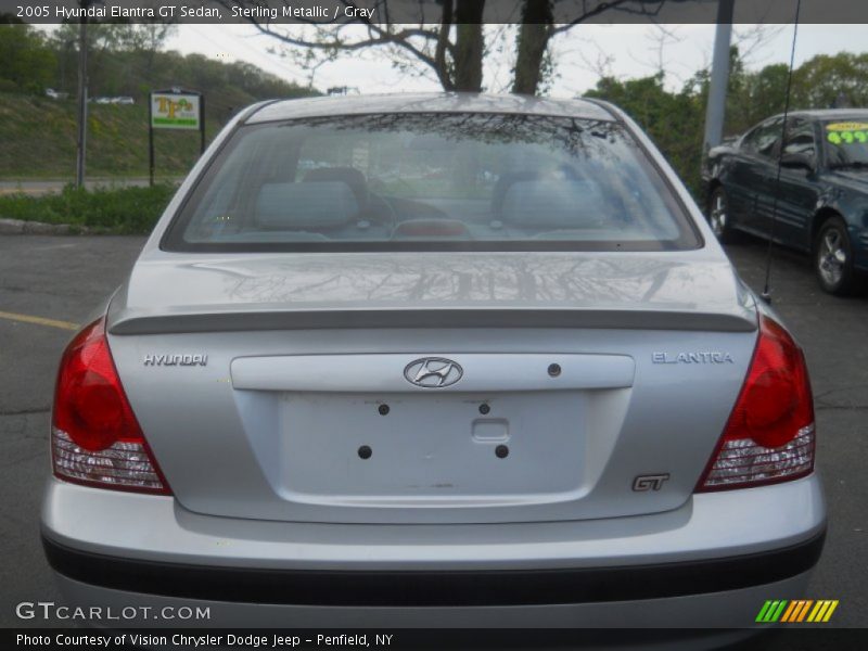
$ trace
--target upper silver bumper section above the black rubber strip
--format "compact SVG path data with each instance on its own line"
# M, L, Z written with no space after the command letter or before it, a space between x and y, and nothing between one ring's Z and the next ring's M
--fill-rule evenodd
M588 522L315 524L217 518L171 497L51 480L43 533L84 551L206 566L294 570L616 567L788 547L826 526L819 477L692 496L651 515Z

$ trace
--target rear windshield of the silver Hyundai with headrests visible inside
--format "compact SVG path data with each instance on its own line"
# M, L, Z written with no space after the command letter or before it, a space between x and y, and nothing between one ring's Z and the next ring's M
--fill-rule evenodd
M171 225L175 251L698 245L617 123L380 114L244 126Z

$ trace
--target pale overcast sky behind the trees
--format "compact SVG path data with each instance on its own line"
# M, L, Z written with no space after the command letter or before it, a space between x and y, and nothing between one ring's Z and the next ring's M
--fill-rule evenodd
M293 29L293 26L278 28ZM636 77L653 74L661 63L667 85L680 86L711 61L715 25L665 25L663 29L653 25L575 27L554 43L559 77L550 94L580 94L593 87L601 67L617 77ZM744 39L751 30L750 25L737 25L735 38ZM743 47L754 46L749 60L751 67L789 62L792 36L792 25L770 25L766 26L760 42L756 39L743 41ZM511 44L512 41L507 42ZM866 50L865 42L865 25L800 25L796 65L816 54L861 52ZM184 53L201 52L224 61L247 61L289 81L307 84L308 79L307 73L295 65L292 58L269 53L270 49L281 49L276 39L259 35L246 25L179 25L167 48ZM510 54L489 56L486 65L486 90L508 91ZM349 86L363 93L439 90L433 78L412 77L394 69L382 51L354 53L352 58L327 64L317 71L314 84L321 90Z

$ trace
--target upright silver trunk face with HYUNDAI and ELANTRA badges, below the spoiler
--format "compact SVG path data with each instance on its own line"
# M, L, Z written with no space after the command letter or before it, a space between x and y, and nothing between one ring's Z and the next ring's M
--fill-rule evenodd
M407 523L591 519L682 505L729 417L755 339L429 328L112 335L110 344L186 508ZM654 361L685 350L722 352L732 361ZM206 354L207 366L144 365L149 355L191 353ZM308 363L320 381L299 391L293 374L311 356L327 365ZM355 379L341 374L335 356L355 367ZM404 368L425 356L457 361L464 378L436 396L413 386ZM549 376L549 363L564 371ZM505 367L515 372L510 380L499 372ZM251 378L253 368L261 375ZM337 373L334 384L329 372ZM492 409L486 416L482 404ZM388 416L380 405L391 407ZM476 436L487 424L502 436ZM495 455L500 443L511 449L507 459ZM373 447L371 459L357 456L361 445ZM661 490L631 489L635 477L658 473L672 477Z

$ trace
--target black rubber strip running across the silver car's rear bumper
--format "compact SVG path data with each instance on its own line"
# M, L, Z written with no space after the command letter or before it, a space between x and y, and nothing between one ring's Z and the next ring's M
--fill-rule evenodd
M215 567L80 551L43 537L59 574L104 588L181 599L328 607L602 603L740 590L809 571L825 534L725 559L626 567L488 571L332 571Z

